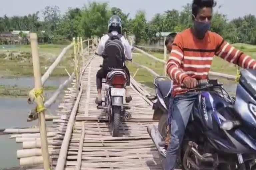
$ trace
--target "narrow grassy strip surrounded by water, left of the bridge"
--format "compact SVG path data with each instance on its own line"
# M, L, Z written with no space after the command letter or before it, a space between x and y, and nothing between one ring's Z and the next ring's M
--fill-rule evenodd
M45 91L56 90L57 87L47 86L44 87ZM9 96L9 97L27 97L28 92L31 89L29 88L20 88L18 86L4 86L0 85L0 96Z

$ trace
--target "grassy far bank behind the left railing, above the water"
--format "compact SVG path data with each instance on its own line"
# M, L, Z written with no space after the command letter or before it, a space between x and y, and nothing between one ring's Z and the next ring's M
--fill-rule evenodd
M56 45L56 44L43 44L39 45L39 57L41 73L44 74L45 71L55 60L55 58L61 53L62 49L66 45ZM5 59L0 57L0 75L8 77L19 77L19 76L33 76L33 65L31 57L31 48L29 45L17 46L9 49L1 49L0 53L24 53L27 52L25 60L24 55L20 58L15 58L13 60ZM62 58L60 64L54 69L51 76L66 76L67 73L65 68L71 73L74 69L73 63L73 48L69 49L67 53Z

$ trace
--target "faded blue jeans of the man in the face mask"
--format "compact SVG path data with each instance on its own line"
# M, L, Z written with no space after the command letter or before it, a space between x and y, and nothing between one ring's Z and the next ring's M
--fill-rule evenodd
M166 151L165 170L175 169L177 154L197 96L197 92L189 92L170 99L168 122L171 134Z

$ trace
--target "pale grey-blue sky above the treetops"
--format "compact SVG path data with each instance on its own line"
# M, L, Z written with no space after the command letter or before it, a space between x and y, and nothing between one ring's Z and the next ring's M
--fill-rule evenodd
M59 6L62 13L68 7L83 7L88 0L1 0L0 16L24 16L36 11L42 11L45 6ZM91 0L92 1L92 0ZM110 7L118 7L125 13L130 13L134 17L137 10L145 10L147 20L150 20L156 13L163 13L166 10L182 10L182 6L191 3L192 0L94 0L97 2L109 2ZM222 5L220 9L215 7L215 11L226 14L228 19L237 18L247 14L256 15L255 0L217 0L217 6ZM40 15L41 17L41 15Z

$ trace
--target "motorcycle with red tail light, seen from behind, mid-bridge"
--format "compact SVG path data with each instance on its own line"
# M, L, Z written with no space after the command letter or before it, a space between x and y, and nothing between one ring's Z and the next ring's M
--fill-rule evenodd
M121 121L131 119L131 114L126 112L130 107L124 106L123 102L126 94L127 74L123 69L113 68L103 82L105 83L105 99L102 101L104 105L97 106L97 109L103 109L108 114L108 120L112 125L112 136L117 137Z

